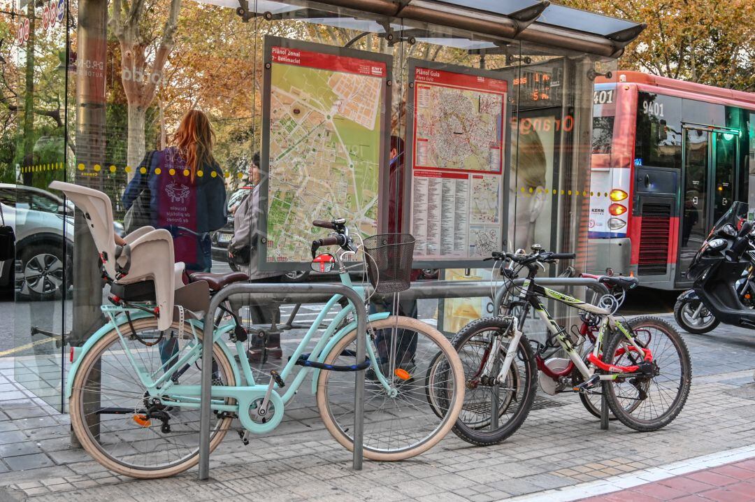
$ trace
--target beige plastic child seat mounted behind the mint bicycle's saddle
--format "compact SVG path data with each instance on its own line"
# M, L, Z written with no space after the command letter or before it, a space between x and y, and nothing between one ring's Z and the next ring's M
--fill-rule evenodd
M175 279L183 273L183 263L174 263L171 233L165 229L144 226L124 237L127 243L125 246L116 246L112 205L105 193L62 181L53 181L50 188L65 193L84 213L105 272L115 285L135 285L143 281L154 283L158 329L170 328L173 322L174 289L176 285L183 285Z

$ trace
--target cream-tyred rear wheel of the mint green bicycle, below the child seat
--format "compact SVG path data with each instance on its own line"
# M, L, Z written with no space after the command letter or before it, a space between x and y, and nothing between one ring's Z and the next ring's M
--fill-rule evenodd
M167 331L157 329L154 318L138 319L113 329L92 346L76 371L70 402L71 426L84 449L104 467L140 479L174 476L199 461L199 408L183 408L180 399L149 396L128 353L142 374L157 380L163 368L172 369L195 340L191 325L177 322ZM179 333L183 332L180 336ZM162 336L162 338L161 338ZM160 341L158 341L160 340ZM163 360L171 359L168 365ZM181 385L199 385L202 359L177 368L171 378ZM213 385L236 385L230 362L220 347L213 347ZM227 404L233 400L227 399ZM230 415L212 414L210 451L230 428Z

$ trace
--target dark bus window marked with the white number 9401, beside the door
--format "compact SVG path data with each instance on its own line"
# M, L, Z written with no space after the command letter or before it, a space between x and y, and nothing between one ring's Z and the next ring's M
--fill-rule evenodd
M682 167L682 99L637 93L634 158L639 165Z

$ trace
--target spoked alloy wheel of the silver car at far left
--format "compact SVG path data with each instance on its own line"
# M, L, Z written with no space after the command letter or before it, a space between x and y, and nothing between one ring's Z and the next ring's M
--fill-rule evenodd
M29 300L54 300L71 285L72 260L63 257L59 245L33 244L20 252L20 274L16 277L20 294ZM63 271L65 270L65 273ZM66 284L63 285L63 276Z

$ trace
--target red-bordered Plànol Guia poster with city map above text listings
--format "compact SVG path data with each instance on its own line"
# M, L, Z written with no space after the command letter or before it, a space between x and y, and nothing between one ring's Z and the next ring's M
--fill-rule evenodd
M508 87L500 73L410 60L415 266L473 266L503 248Z

